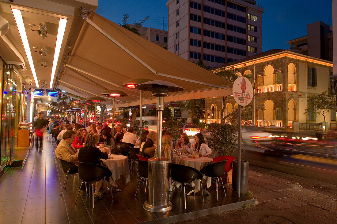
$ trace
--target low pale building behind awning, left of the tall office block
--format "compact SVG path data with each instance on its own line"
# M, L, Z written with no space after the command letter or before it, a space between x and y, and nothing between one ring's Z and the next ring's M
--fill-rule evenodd
M128 24L130 27L134 27L132 24ZM148 28L148 27L139 27L137 28L138 32L141 34L142 37L155 43L165 49L167 49L167 31L160 30L155 28Z

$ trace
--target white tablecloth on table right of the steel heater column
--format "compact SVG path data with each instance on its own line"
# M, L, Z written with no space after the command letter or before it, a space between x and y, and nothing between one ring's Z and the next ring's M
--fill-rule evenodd
M213 159L208 158L208 157L189 158L187 156L180 156L177 164L190 166L190 167L193 167L194 169L200 171L205 166L207 166L209 164L212 164L212 163L213 163ZM205 176L204 176L204 179L206 180L207 188L209 188L211 186L211 180L212 179L210 177L205 177ZM199 181L193 181L191 184L192 184L192 186L193 185L195 186L194 187L195 192L198 192L200 190L200 182Z

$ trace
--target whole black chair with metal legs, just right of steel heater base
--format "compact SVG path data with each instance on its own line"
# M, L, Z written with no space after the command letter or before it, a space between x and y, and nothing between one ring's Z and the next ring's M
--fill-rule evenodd
M185 209L186 209L186 184L189 184L192 181L195 181L195 180L200 181L201 194L203 196L203 202L204 202L203 187L201 184L201 179L203 178L203 175L200 173L200 171L190 166L184 166L184 165L171 163L170 164L170 176L171 176L171 179L174 181L172 193L174 191L174 188L176 187L176 183L184 184ZM171 199L171 195L170 195L170 199Z

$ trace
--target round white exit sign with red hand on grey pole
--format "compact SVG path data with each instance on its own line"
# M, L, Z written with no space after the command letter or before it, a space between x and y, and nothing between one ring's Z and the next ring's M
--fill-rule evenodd
M253 98L253 86L249 79L243 76L233 84L233 97L238 103L238 197L241 197L241 106L250 104Z

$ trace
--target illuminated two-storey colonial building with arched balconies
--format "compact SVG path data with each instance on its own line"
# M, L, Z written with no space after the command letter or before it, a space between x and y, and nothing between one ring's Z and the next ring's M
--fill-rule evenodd
M313 112L304 114L310 105L307 97L329 91L333 64L287 50L269 50L227 66L211 70L227 69L237 75L251 74L254 97L251 104L252 123L257 126L290 126L293 121L299 127L318 125L323 116L315 117ZM221 122L221 98L205 99L206 122ZM225 114L238 108L233 96L225 100ZM326 115L327 126L336 126L336 111Z

